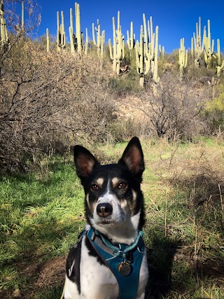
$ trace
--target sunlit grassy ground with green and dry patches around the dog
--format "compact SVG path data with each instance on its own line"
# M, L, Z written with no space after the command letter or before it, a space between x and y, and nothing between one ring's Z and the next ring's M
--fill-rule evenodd
M126 143L94 148L120 158ZM224 298L224 144L142 141L146 298ZM72 158L0 177L0 298L60 298L64 263L85 223Z

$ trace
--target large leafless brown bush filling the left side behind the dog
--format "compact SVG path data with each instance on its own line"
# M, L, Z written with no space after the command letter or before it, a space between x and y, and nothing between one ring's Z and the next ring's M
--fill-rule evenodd
M113 100L91 57L38 50L21 39L0 77L0 166L24 169L40 151L69 147L77 136L99 139L113 118Z

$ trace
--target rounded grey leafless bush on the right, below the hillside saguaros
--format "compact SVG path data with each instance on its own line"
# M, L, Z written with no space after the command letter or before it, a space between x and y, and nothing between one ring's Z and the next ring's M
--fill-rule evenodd
M141 110L151 120L158 137L192 139L204 130L200 120L204 92L195 81L180 81L166 74L153 92L146 90L141 94Z

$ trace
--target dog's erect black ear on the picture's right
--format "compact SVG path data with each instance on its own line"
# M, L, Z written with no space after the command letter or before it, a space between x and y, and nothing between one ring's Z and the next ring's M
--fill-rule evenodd
M141 175L144 172L144 155L138 137L133 137L129 141L119 163L125 165L130 172L136 175Z

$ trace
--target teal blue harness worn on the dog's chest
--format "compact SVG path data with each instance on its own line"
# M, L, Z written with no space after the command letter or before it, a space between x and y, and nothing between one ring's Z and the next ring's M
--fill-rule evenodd
M119 295L118 299L134 299L137 297L139 287L139 273L141 262L144 256L143 232L139 235L131 246L127 244L111 244L108 239L100 235L97 230L90 228L87 231L87 238L90 240L98 256L102 258L118 281ZM130 274L124 276L118 270L121 263L130 265Z

